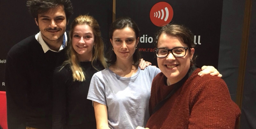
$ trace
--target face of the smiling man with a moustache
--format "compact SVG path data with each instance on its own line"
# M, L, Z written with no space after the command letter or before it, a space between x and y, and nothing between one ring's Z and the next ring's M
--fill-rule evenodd
M39 26L42 38L45 42L62 41L66 31L67 19L63 6L50 8L46 13L38 14L35 22Z

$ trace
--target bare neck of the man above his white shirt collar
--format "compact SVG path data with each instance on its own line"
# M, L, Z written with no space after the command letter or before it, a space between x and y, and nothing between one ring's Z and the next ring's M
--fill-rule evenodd
M62 35L59 39L55 40L55 41L51 41L51 40L48 40L46 37L44 37L42 35L42 38L44 40L44 42L48 45L48 47L51 49L51 50L54 50L54 51L58 51L60 46L62 45L63 43L63 36Z

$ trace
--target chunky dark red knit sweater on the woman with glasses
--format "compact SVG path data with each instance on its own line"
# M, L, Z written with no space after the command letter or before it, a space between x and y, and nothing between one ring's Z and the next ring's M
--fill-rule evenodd
M155 105L164 99L173 85L166 86L159 73L152 82L146 127L150 129L232 129L241 114L231 100L226 83L217 76L198 76L196 69L166 103L152 115Z

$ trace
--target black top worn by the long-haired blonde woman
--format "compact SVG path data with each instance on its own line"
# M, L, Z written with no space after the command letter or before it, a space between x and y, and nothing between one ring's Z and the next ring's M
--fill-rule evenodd
M58 67L53 77L53 129L96 129L92 101L87 99L90 81L94 73L104 69L97 61L80 62L85 81L73 81L70 65ZM61 70L60 70L61 69Z

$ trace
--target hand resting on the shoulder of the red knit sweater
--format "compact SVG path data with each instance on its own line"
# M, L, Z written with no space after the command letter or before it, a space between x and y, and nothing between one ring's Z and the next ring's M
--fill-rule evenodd
M219 78L222 77L221 74L219 74L219 71L215 69L213 66L203 66L202 71L198 73L198 76L204 76L206 74L210 74L212 76L218 76Z

